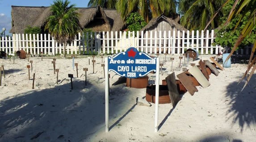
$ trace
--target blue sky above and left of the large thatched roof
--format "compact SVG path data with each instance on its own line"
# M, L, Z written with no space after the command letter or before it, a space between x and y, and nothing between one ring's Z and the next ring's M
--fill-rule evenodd
M9 30L12 28L11 11L14 6L50 6L54 0L0 0L0 32L6 28L5 35L11 35ZM89 0L69 0L76 7L87 7Z

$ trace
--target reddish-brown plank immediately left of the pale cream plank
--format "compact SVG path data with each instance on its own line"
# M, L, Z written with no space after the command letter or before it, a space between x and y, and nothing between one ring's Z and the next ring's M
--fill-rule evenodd
M180 82L184 85L184 87L189 91L191 95L194 95L195 92L198 92L196 86L193 85L192 81L186 75L186 73L180 73L177 75L180 79Z

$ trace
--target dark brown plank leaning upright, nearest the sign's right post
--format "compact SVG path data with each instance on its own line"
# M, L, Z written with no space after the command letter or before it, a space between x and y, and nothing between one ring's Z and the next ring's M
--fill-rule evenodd
M180 94L178 92L177 85L176 85L175 73L174 72L171 73L170 75L165 77L165 79L166 79L170 99L172 102L172 106L175 107L177 103L180 101Z

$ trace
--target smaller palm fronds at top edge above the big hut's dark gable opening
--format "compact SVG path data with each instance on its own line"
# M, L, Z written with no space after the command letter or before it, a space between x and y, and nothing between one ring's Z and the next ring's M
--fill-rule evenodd
M90 0L88 7L101 6L102 8L115 8L117 0Z

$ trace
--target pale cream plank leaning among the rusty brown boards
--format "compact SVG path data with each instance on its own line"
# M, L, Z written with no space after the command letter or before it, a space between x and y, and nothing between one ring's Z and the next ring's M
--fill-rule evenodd
M203 88L206 88L210 85L210 82L206 79L200 69L197 68L197 66L193 66L192 68L190 68L189 73L191 73L193 77L197 79L197 81Z

